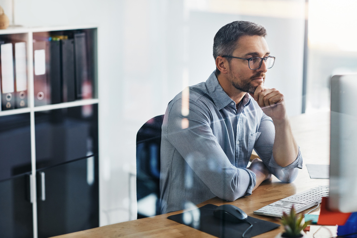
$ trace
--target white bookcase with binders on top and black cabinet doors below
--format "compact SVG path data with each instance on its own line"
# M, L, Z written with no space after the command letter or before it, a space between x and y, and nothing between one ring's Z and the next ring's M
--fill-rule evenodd
M97 227L97 27L1 30L0 44L12 43L14 52L12 105L20 102L17 42L26 43L27 105L0 111L0 230L7 232L2 235L41 238ZM1 58L0 72L8 70L2 68L6 60ZM7 78L0 73L1 86ZM44 94L37 93L41 90ZM1 91L4 97L8 92Z

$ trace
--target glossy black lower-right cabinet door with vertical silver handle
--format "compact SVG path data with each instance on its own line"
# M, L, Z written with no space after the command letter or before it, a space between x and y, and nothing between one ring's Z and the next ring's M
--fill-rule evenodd
M98 156L38 170L38 237L98 227L98 184Z

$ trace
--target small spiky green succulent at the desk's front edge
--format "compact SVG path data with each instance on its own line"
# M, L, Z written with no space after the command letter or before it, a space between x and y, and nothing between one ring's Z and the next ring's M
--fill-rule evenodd
M285 231L275 238L307 238L303 230L311 224L311 221L303 222L304 216L296 214L294 206L291 207L290 214L283 212L282 225Z

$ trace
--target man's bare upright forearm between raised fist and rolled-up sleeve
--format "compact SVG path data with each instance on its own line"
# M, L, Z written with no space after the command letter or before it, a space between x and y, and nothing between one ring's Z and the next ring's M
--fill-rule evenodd
M275 162L281 167L286 167L295 161L299 153L299 148L292 135L289 119L274 121L275 140L273 146L273 156Z

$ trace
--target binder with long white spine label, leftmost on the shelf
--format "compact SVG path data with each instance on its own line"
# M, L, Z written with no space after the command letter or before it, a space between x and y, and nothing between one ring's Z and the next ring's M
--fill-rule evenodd
M1 59L1 109L15 108L14 59L12 43L0 45Z

